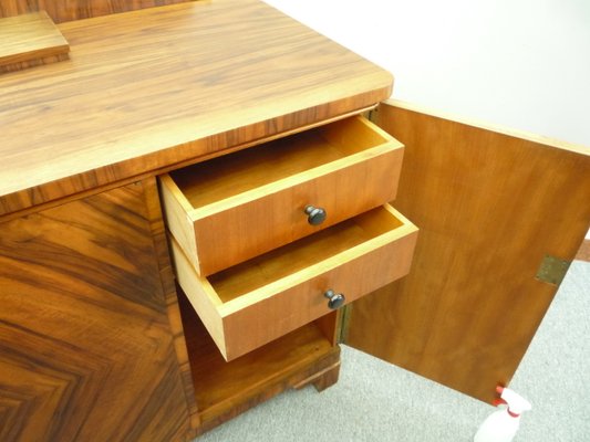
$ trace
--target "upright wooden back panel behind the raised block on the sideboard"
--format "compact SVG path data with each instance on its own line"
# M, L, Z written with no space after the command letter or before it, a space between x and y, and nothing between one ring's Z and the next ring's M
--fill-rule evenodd
M0 17L46 11L55 23L190 0L2 0Z

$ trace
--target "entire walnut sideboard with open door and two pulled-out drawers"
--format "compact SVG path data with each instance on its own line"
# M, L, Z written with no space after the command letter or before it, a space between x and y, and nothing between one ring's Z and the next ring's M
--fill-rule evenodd
M0 42L0 440L187 441L330 387L341 343L510 381L588 230L587 148L390 101L257 0L0 15L28 30Z

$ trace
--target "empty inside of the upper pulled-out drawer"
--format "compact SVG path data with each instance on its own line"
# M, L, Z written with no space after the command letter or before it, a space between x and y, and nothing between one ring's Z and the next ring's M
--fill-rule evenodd
M371 123L352 117L178 169L170 177L199 209L329 164L333 168L334 161L361 160L373 148L379 155L379 147L391 140Z

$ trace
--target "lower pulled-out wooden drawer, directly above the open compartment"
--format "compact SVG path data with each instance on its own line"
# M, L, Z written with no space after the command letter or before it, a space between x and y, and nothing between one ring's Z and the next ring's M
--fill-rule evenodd
M170 239L178 283L226 360L410 271L417 229L389 204L210 276L199 276Z

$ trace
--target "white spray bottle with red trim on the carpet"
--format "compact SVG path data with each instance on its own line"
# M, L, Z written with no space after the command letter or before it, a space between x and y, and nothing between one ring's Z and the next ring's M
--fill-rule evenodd
M497 387L500 393L498 403L508 404L507 409L493 412L482 423L474 442L511 442L520 427L520 414L530 410L530 403L509 388Z

